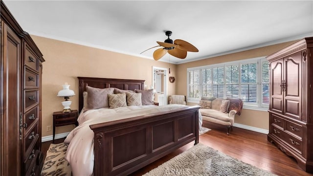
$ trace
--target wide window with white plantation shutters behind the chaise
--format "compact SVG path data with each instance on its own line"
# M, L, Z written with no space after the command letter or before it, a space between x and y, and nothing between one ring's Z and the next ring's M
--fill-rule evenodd
M190 102L201 97L241 98L244 107L268 107L268 61L254 58L187 69Z

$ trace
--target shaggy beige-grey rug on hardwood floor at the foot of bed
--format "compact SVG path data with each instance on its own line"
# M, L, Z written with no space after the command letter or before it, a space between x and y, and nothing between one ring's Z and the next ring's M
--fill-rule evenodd
M275 176L201 143L144 176Z

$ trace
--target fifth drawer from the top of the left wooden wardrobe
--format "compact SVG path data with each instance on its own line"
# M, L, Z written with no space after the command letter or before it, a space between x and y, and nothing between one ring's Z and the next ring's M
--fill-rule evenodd
M26 155L28 155L29 153L31 153L31 150L33 148L33 146L36 146L36 142L39 138L39 131L38 131L38 123L26 134L24 134L24 138L23 138L23 151ZM25 158L24 158L25 159Z

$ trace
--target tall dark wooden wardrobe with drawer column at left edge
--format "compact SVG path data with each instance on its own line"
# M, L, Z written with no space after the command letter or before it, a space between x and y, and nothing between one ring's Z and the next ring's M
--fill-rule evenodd
M0 1L0 175L39 176L42 53Z

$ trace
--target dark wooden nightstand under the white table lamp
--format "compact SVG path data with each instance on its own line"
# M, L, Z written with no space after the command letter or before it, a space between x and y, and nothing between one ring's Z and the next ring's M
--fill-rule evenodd
M77 122L78 111L72 110L71 112L53 112L53 140L54 144L54 136L55 136L55 127L65 126L75 124L78 126Z

